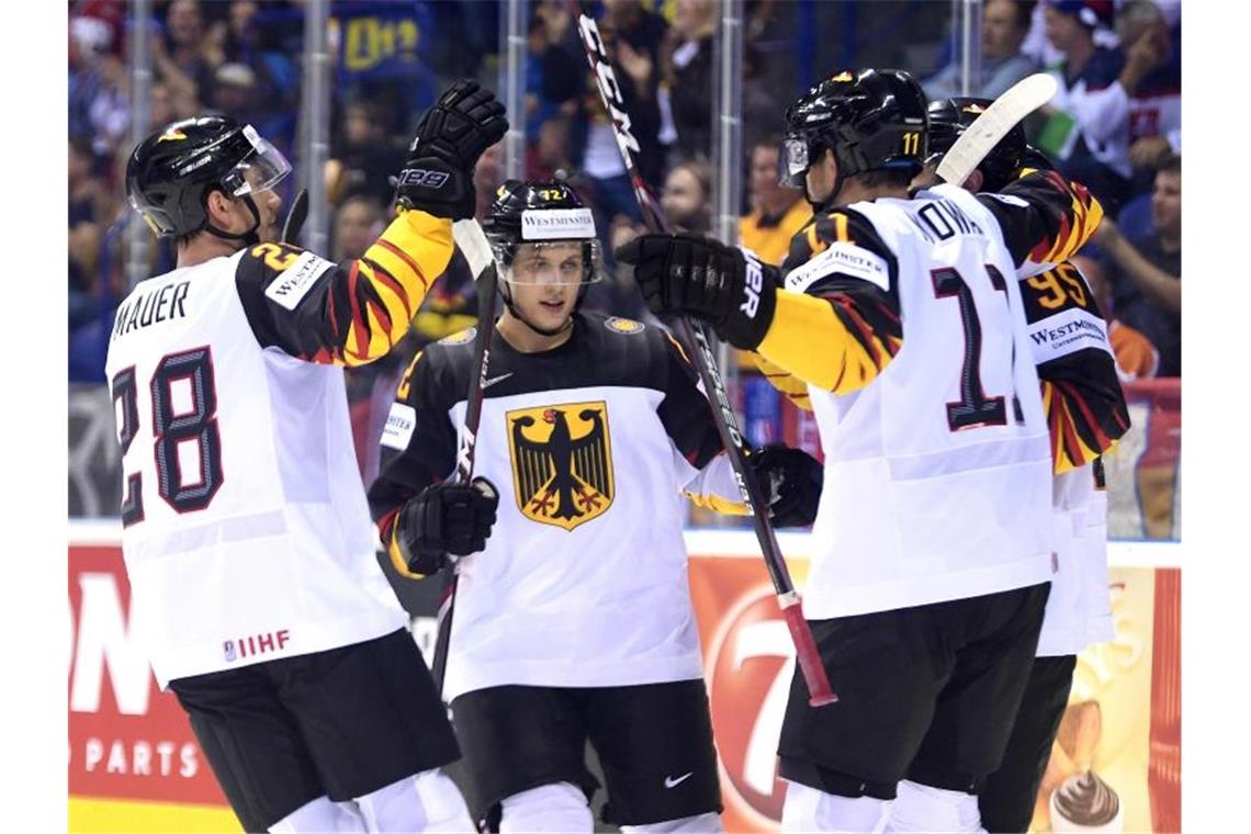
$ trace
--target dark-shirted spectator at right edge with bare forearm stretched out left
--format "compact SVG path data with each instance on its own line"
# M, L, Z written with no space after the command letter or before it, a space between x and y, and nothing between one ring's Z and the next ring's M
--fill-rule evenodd
M1151 194L1155 233L1126 240L1103 219L1095 241L1105 254L1116 318L1160 351L1160 376L1181 375L1181 158L1156 173Z

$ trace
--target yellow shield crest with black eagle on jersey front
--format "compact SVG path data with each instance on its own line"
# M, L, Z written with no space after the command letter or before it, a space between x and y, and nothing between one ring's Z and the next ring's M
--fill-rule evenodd
M505 414L517 508L572 530L613 503L608 404L565 403Z

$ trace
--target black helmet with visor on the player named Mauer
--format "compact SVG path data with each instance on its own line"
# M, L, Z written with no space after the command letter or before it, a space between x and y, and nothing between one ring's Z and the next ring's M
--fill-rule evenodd
M271 189L290 170L281 151L251 125L200 116L175 121L139 143L126 165L126 195L159 238L208 229L219 238L248 240L260 225L250 195ZM205 205L215 190L248 201L255 218L250 231L235 235L209 225Z

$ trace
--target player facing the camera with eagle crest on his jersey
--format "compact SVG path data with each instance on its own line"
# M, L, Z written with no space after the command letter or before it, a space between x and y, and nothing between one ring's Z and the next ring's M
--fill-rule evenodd
M455 469L472 331L414 359L369 490L398 570L455 561L444 695L478 810L503 831L590 831L589 740L608 821L721 830L682 536L683 494L742 511L711 406L664 330L579 311L599 256L572 189L510 180L483 225L505 310L474 470L498 486L498 520L450 550L423 509ZM816 461L787 449L753 460L778 523L811 523Z

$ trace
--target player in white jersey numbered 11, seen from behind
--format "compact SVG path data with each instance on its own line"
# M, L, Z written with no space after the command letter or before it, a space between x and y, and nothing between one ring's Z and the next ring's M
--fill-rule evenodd
M1053 175L998 198L911 194L926 100L898 70L842 71L787 111L783 173L813 220L781 270L647 235L653 310L696 315L807 383L826 454L804 610L837 704L793 680L783 830L874 831L901 780L924 820L978 830L1052 573L1051 454L1013 276L1090 235L1097 203ZM784 279L784 286L783 284Z

